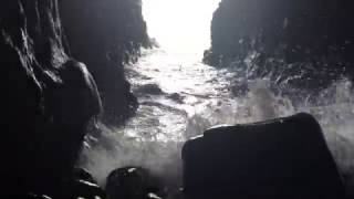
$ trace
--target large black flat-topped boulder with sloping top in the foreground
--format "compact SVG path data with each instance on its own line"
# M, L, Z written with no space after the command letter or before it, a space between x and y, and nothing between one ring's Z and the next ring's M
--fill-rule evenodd
M308 114L209 129L186 143L183 159L187 199L345 195L321 127Z

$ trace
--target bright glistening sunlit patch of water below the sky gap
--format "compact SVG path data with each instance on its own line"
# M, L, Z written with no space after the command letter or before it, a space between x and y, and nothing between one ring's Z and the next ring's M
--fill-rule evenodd
M133 91L139 91L136 94L140 104L137 116L125 128L128 134L138 132L131 126L142 129L142 122L146 122L143 126L157 140L184 140L188 118L207 107L228 103L226 71L160 49L145 53L138 63L127 67ZM144 94L139 88L145 85L156 85L162 93L152 95L147 88Z

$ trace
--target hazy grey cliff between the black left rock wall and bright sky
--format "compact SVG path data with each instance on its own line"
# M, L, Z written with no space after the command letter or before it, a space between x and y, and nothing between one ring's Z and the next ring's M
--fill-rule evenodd
M140 0L61 0L60 12L71 53L95 78L105 122L122 122L137 106L123 63L148 45Z

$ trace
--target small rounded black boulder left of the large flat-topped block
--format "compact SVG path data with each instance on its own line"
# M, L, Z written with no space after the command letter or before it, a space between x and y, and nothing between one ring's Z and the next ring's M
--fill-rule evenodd
M162 192L156 179L137 167L118 168L110 174L106 192L110 199L158 199Z

